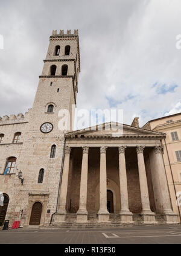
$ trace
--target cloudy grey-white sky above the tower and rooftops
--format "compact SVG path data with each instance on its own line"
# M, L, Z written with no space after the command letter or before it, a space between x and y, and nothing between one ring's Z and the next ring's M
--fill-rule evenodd
M33 106L52 30L78 29L78 109L140 125L181 112L180 0L0 1L0 116ZM180 43L181 45L181 43Z

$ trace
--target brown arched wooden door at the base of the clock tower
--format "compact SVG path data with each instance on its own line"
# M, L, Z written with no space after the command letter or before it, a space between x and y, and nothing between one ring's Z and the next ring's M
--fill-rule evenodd
M42 203L34 203L31 210L30 225L38 226L40 225L40 220L42 216Z

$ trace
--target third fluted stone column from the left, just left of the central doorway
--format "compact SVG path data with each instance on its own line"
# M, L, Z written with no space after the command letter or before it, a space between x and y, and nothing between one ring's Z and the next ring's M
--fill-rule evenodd
M99 222L109 221L109 212L107 211L107 174L106 174L106 150L107 147L101 147L100 157L100 210L98 211Z

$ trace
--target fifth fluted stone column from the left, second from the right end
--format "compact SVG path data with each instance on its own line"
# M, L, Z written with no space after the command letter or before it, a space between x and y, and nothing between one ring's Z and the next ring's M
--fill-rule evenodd
M141 191L142 219L144 222L155 222L155 214L150 209L150 199L148 195L148 183L144 162L144 146L136 148L138 156L139 185Z

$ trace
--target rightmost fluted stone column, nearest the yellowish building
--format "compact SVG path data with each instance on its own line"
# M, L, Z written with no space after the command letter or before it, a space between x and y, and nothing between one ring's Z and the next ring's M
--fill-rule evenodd
M154 147L154 164L157 171L157 185L160 186L160 203L163 209L164 219L167 223L177 223L177 214L171 208L170 193L168 190L167 176L165 173L164 159L162 153L164 146Z

